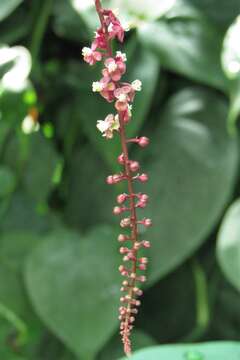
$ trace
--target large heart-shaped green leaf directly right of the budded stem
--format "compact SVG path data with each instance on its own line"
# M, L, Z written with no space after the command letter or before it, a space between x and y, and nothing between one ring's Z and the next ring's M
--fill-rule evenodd
M162 123L150 134L149 150L140 153L142 169L150 175L145 216L154 224L146 234L153 240L150 281L173 270L203 243L233 191L238 142L227 134L226 114L215 93L185 89L170 99Z

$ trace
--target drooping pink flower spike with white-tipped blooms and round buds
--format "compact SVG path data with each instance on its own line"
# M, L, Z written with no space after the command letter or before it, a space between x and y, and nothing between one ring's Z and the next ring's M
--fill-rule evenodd
M124 263L124 265L119 266L119 271L125 278L122 282L123 296L120 298L121 306L119 308L120 334L124 351L129 355L131 354L130 334L135 315L140 306L138 298L142 295L139 284L146 281L143 271L146 270L148 263L146 257L139 256L139 250L150 247L149 241L139 239L139 225L149 227L152 222L148 218L140 220L137 218L137 209L146 207L148 195L135 193L133 183L134 181L142 183L148 181L148 175L140 174L138 161L129 159L128 143L135 143L144 148L149 144L149 139L145 136L126 138L125 127L132 118L132 103L135 93L141 91L142 83L140 80L135 80L132 83L121 81L126 72L127 56L121 51L113 54L111 43L114 39L123 42L125 30L113 11L102 8L100 0L95 0L95 7L101 26L95 33L91 47L84 47L82 54L89 65L94 65L98 61L104 63L102 78L93 82L92 90L99 92L106 101L114 102L116 113L108 114L104 120L98 120L97 128L106 139L112 139L114 133L118 133L122 146L122 153L117 158L118 163L122 166L122 171L118 174L109 175L106 182L113 185L126 181L128 188L127 193L118 195L118 205L113 208L113 214L127 214L120 220L120 226L123 229L130 230L128 234L118 236L118 241L121 243L120 253L123 255Z

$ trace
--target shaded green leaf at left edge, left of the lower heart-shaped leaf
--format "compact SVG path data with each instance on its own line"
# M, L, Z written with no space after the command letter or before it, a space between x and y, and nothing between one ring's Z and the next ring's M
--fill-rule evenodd
M6 336L12 333L12 341L19 349L33 342L36 333L39 335L42 329L27 297L22 277L25 257L40 239L36 233L26 230L0 235L0 319L4 318L11 325ZM7 344L1 350L7 350Z

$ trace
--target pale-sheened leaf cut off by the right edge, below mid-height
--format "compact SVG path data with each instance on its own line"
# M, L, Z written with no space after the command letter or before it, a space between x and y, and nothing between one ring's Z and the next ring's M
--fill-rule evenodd
M240 291L240 200L228 209L218 234L219 264L230 283Z

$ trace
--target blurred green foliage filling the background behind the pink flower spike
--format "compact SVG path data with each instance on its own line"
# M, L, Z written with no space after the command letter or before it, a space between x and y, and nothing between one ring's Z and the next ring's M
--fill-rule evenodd
M0 2L3 360L122 357L111 208L123 188L104 182L120 147L96 131L110 107L91 92L99 67L81 59L92 5ZM126 79L143 82L129 135L151 138L130 149L150 174L154 221L133 335L151 348L133 359L239 359L239 0L105 5L131 21Z

